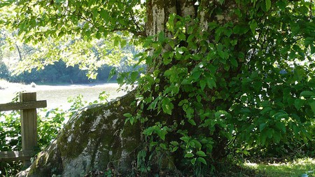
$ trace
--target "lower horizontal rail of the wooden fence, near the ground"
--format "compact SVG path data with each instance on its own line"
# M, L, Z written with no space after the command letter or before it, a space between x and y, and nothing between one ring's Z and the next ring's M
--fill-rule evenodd
M2 151L0 152L0 161L29 160L34 155L34 150Z

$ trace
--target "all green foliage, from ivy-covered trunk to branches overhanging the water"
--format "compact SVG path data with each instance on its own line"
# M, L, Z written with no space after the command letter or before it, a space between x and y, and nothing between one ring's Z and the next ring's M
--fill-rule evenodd
M201 175L229 153L277 155L305 144L314 153L312 1L194 1L195 15L172 14L152 36L144 33L144 7L151 1L7 3L2 24L34 45L79 38L64 44L65 51L84 55L58 58L90 71L95 62L113 60L95 60L85 45L102 39L113 44L102 46L103 54L121 55L127 43L143 43L146 51L137 57L148 71L118 76L122 85L139 85L138 111L125 117L144 128L143 161L167 153L179 168ZM51 50L43 62L29 65L41 67L57 54Z

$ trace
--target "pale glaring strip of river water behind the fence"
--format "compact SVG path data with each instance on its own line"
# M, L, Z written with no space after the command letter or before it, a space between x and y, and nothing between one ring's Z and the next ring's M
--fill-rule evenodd
M37 100L47 100L47 107L56 108L62 106L67 108L70 104L68 97L77 97L83 95L83 100L92 102L97 100L99 93L106 92L109 94L108 100L123 96L125 92L118 92L118 84L87 84L87 85L10 85L4 90L0 90L0 104L6 104L15 97L17 92L36 92Z

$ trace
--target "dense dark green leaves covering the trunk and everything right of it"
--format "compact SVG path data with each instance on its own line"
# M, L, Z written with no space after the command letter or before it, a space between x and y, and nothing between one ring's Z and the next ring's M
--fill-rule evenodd
M154 52L141 59L161 62L142 78L131 74L139 112L126 117L144 123L149 149L182 149L197 167L228 153L280 156L305 144L314 155L314 3L237 6L235 22L211 22L209 31L199 19L172 15L173 38L146 40Z

